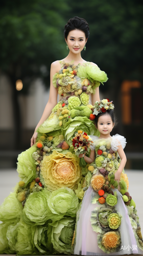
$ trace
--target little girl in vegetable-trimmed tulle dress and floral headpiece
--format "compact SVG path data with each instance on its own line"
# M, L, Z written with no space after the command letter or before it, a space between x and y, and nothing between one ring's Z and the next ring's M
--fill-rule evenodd
M104 99L95 105L100 137L91 136L94 148L91 146L89 157L79 155L90 164L92 178L77 214L74 253L143 254L135 203L128 193L129 182L124 173L126 139L118 134L110 135L115 124L112 102Z

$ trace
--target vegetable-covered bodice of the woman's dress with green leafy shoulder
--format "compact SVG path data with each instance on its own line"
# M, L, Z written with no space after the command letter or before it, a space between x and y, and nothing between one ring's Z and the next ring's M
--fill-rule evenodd
M91 104L91 94L107 79L106 73L90 62L76 66L62 61L61 70L53 76L53 85L58 89L59 101L76 96L82 104Z

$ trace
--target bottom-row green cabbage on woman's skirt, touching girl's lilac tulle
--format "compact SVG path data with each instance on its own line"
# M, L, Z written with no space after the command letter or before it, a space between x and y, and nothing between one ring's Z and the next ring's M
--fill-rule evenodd
M75 220L63 218L51 225L53 226L51 241L54 249L58 253L72 254L71 243L74 236Z

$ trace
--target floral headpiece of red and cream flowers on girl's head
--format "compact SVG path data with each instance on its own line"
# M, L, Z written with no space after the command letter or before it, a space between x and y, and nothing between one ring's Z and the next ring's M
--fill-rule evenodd
M103 99L101 101L96 101L94 107L94 112L93 115L98 115L100 113L104 113L107 110L113 110L114 109L114 104L112 103L113 101L110 101L109 99Z

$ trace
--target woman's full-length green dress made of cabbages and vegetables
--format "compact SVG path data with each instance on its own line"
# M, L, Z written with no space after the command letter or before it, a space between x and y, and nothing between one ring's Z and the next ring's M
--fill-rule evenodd
M1 254L74 252L76 215L92 175L79 165L72 138L78 130L99 136L91 94L107 79L88 62L61 62L53 77L59 102L38 128L36 144L18 156L20 182L0 208Z

